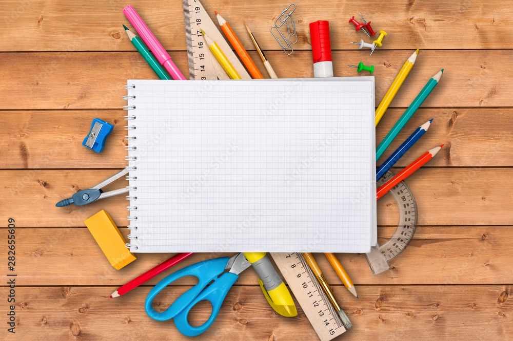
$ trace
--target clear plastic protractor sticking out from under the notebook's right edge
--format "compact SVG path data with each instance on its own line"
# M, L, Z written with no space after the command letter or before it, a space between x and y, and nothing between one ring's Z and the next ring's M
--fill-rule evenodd
M377 186L383 185L394 174L390 171L377 182ZM406 249L410 241L415 235L417 229L417 221L419 220L419 212L417 210L417 202L411 189L406 183L400 182L388 192L397 202L399 208L399 223L392 237L383 245L372 246L370 252L365 254L365 259L369 264L370 270L374 275L385 272L390 269L390 262Z

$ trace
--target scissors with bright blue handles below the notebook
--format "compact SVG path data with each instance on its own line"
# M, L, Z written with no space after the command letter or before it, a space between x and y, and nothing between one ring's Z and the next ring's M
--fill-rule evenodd
M157 321L167 321L173 318L176 329L186 336L200 335L212 325L215 317L218 316L226 294L239 278L239 274L250 266L251 264L241 252L232 258L215 258L173 272L151 289L148 297L146 297L146 313ZM229 271L225 272L227 269ZM184 292L165 311L155 311L151 306L155 296L166 286L185 276L198 278L198 284ZM214 282L208 285L212 281ZM189 312L198 302L205 300L212 304L212 313L203 325L193 327L187 319Z

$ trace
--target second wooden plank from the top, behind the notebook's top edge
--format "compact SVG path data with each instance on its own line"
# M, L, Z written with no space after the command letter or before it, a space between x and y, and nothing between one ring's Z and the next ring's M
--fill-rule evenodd
M377 103L411 52L381 51L373 57ZM334 51L334 74L356 76L357 72L346 64L362 60L361 53ZM187 70L186 52L172 52L171 57L181 70ZM267 57L280 78L313 76L309 51L297 51L292 56L273 51ZM156 78L136 52L6 52L0 53L0 58L10 66L0 69L0 77L9 84L0 103L4 110L121 109L127 79ZM511 106L513 88L503 72L503 60L507 58L508 50L422 51L392 107L406 108L442 68L444 76L424 107Z

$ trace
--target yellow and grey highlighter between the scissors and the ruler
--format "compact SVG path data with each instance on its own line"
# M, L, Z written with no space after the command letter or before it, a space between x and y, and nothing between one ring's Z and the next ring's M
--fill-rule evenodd
M267 302L275 312L285 317L298 315L292 295L287 286L272 266L266 252L244 252L244 255L259 276L258 283Z

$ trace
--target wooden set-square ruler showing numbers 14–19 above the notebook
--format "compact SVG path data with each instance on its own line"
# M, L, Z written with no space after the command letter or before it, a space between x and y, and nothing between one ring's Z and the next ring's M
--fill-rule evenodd
M199 0L183 0L185 18L185 38L187 41L187 59L189 61L189 79L230 79L223 67L212 55L203 39L200 29L203 29L230 60L233 67L242 79L251 79L239 58L233 53L231 47L212 22L210 16Z

